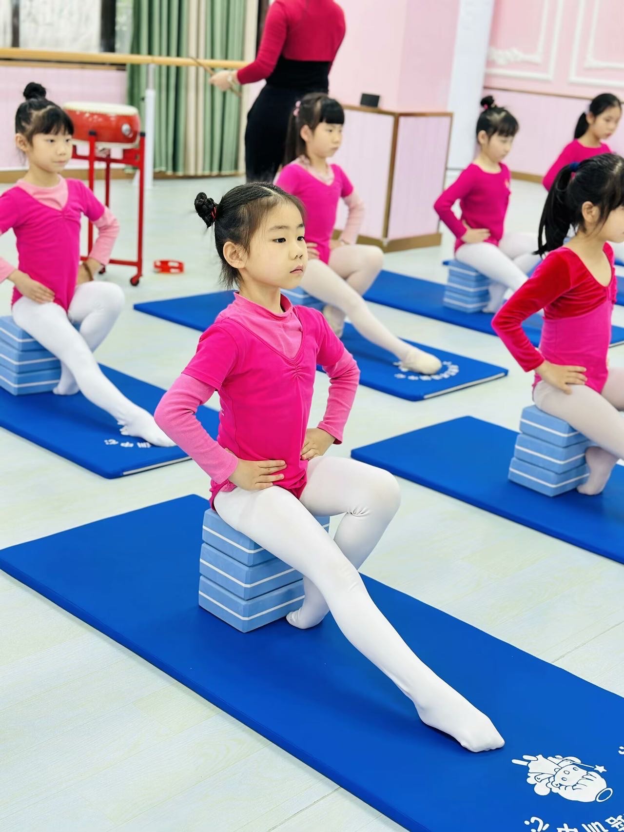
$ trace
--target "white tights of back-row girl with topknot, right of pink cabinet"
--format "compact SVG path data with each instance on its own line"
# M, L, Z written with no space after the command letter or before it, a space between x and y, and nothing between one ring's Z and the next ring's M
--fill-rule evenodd
M455 259L494 280L490 286L490 302L484 312L496 312L508 289L515 292L527 280L527 273L541 260L532 252L537 249L537 235L516 232L506 234L498 245L464 243Z

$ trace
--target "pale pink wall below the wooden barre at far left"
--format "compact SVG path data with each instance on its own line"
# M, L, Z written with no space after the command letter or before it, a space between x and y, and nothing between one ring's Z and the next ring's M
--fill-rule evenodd
M47 89L51 101L105 103L126 102L126 71L100 69L55 69L52 67L2 67L0 85L0 170L23 166L15 148L15 111L22 102L22 91L29 81L37 81ZM70 162L86 166L86 162Z

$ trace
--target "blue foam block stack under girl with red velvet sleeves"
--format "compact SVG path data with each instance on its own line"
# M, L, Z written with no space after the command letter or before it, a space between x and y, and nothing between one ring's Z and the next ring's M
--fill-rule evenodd
M557 497L587 480L589 440L563 419L534 404L522 410L509 479L547 497Z

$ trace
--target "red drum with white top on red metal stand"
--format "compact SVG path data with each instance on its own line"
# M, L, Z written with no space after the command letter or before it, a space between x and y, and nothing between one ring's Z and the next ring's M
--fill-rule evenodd
M96 132L99 147L133 147L139 141L139 111L127 104L70 102L63 105L74 123L74 139L89 141L89 131Z

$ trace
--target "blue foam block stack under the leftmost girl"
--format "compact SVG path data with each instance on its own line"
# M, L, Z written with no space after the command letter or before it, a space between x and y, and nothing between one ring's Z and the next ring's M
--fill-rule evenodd
M0 387L14 396L47 393L60 378L60 361L10 315L0 318Z

